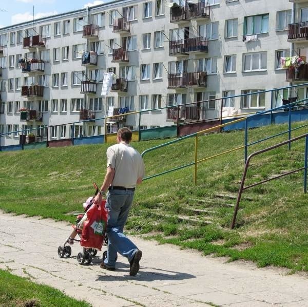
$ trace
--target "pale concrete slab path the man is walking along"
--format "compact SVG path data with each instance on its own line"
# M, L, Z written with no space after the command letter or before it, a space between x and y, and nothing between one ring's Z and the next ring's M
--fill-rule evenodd
M114 272L101 269L99 257L91 265L80 265L79 244L72 245L71 258L57 256L71 229L64 222L0 212L0 268L93 306L308 306L307 275L287 275L287 270L244 261L227 263L140 238L133 238L143 251L135 277L129 276L122 256Z

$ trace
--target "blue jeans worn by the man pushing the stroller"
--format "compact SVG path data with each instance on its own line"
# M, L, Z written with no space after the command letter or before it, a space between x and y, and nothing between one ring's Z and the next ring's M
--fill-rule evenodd
M115 266L117 253L128 258L130 262L138 251L124 234L130 207L132 205L134 191L111 189L107 194L106 208L109 209L107 222L108 253L104 263L107 267Z

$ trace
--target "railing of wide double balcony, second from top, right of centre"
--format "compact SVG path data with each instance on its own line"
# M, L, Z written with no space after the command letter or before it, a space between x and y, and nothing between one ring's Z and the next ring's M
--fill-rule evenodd
M188 55L188 52L208 52L208 38L196 36L169 42L169 55Z

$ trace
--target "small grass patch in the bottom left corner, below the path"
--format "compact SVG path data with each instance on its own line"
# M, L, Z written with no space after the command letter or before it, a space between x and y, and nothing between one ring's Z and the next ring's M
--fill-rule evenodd
M0 270L1 307L91 307L44 284L36 284L26 278Z

